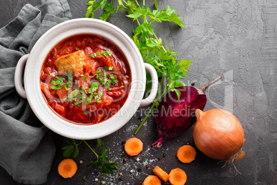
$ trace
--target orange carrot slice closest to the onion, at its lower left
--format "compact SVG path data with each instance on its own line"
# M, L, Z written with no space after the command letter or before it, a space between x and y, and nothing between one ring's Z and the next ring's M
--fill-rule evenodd
M178 159L183 163L192 162L195 159L196 151L190 145L181 146L177 151Z

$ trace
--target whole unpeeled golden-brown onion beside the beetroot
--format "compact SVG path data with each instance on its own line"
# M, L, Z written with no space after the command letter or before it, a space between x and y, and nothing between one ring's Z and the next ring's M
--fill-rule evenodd
M234 159L245 142L243 127L227 110L196 110L194 142L202 153L212 159Z

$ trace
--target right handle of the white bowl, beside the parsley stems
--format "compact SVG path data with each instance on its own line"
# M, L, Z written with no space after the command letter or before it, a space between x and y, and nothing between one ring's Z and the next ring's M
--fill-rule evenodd
M148 106L149 104L151 104L154 101L158 91L158 75L155 68L152 65L147 63L144 63L144 66L145 66L145 70L147 70L151 75L152 88L151 88L150 95L141 101L140 106Z

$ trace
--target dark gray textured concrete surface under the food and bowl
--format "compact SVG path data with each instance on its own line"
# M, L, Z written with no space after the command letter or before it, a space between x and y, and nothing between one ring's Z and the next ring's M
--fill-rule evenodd
M73 18L85 16L86 1L68 1ZM2 0L0 6L0 27L13 19L25 3L36 5L36 1ZM153 7L152 1L147 2ZM63 159L61 147L66 139L53 134L57 144L57 155L46 184L101 184L94 178L107 179L106 184L141 184L152 169L158 165L168 173L172 168L182 168L187 173L187 184L277 184L277 2L276 0L172 0L158 1L160 8L169 4L181 15L185 23L182 30L172 23L156 23L155 32L164 43L178 52L178 59L193 61L184 82L203 86L212 79L223 75L224 79L207 91L208 102L205 110L224 108L240 120L246 142L243 150L245 158L234 166L209 159L196 149L194 162L182 164L176 158L176 151L184 144L195 146L192 128L183 135L164 142L162 148L150 145L157 139L153 117L136 137L144 144L139 158L127 157L123 163L121 142L134 136L134 130L147 108L139 108L138 113L116 133L103 138L110 149L110 161L119 164L119 170L109 177L98 173L96 168L88 168L94 155L86 146L81 146L76 161L79 170L71 179L63 179L57 173L57 166ZM96 14L96 17L99 14ZM110 23L124 30L128 35L136 23L124 13L112 15ZM89 141L94 146L95 141ZM100 153L101 150L97 151ZM167 153L161 160L157 158ZM145 168L150 164L150 168ZM138 172L137 168L142 171ZM130 173L130 170L134 173ZM123 173L123 181L119 181ZM83 180L86 175L87 181ZM6 171L0 169L0 184L17 184ZM165 184L165 183L162 183Z

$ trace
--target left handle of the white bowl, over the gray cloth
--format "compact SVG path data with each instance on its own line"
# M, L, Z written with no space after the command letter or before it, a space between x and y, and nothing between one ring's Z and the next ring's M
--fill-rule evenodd
M23 55L19 59L19 62L17 63L17 68L15 68L15 72L14 72L15 89L17 90L17 93L23 98L27 98L27 96L22 86L22 72L28 57L29 57L29 54Z

